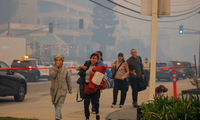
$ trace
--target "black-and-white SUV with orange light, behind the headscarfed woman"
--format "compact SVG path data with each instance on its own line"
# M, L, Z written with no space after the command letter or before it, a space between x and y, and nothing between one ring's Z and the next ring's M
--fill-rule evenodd
M52 65L45 63L40 58L30 57L28 59L13 60L12 68L29 68L26 70L18 70L27 80L33 80L38 82L39 78L47 78L51 80L49 76L49 69L32 69L32 68L50 68Z

